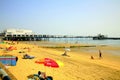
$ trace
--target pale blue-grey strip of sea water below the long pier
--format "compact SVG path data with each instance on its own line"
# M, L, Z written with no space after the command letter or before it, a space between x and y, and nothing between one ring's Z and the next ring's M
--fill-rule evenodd
M93 40L92 38L50 38L49 41L62 43L84 43L95 45L120 46L120 40Z

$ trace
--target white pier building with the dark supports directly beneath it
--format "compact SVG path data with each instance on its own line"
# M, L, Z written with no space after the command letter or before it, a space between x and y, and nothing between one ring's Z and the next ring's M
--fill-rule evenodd
M34 41L40 40L41 35L35 35L32 30L25 29L6 29L3 31L3 40L13 40L13 41Z

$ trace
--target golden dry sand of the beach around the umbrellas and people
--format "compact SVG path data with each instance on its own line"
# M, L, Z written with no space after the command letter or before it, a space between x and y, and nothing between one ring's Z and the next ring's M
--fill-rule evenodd
M6 44L6 46L9 45ZM61 44L61 46L66 45L72 46L73 44ZM71 51L67 52L68 57L61 56L64 53L64 48L43 48L37 44L28 43L15 43L13 46L17 47L17 50L5 52L4 49L0 49L0 54L11 54L18 57L17 65L8 67L17 80L27 80L28 75L37 74L39 70L46 72L46 75L52 76L54 80L120 80L120 55L109 54L111 51L119 53L120 47L83 47L83 45L71 48ZM99 49L102 51L102 59L98 57ZM35 58L23 59L25 53L19 53L19 51L24 51ZM90 59L91 55L94 59ZM59 60L64 63L64 66L51 68L35 63L36 60L43 58Z

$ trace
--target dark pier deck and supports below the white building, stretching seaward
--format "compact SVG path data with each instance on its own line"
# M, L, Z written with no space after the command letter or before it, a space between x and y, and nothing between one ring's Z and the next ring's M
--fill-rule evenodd
M4 35L3 40L8 41L49 41L49 38L91 38L83 36L62 36L62 35Z

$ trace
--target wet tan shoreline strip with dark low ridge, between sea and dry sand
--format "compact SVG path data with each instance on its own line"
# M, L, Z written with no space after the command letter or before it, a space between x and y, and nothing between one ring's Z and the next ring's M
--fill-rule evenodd
M120 55L120 46L109 46L109 45L92 45L92 44L71 44L71 43L58 43L58 42L49 42L49 41L33 41L33 42L22 42L25 44L32 44L32 45L36 45L42 48L50 48L50 49L63 49L64 48L70 48L70 49L87 49L87 51L91 51L91 52L98 52L99 47L103 49L103 52L105 53L111 53L111 54L116 54L116 55ZM93 50L92 50L93 49Z

